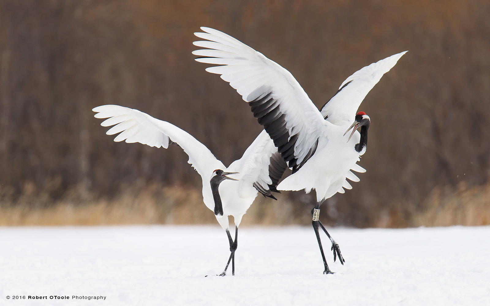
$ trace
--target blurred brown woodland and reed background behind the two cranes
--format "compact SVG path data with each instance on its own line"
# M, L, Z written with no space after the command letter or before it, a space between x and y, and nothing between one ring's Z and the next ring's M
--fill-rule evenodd
M291 71L317 106L404 50L360 110L368 171L322 206L356 227L490 224L490 1L0 0L0 224L214 223L178 147L115 143L91 109L170 121L228 165L261 130L196 63L209 26ZM309 224L314 194L246 224Z

